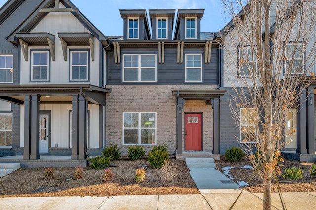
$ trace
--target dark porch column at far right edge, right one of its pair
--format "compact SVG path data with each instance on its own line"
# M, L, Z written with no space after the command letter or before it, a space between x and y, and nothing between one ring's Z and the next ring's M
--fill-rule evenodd
M315 153L314 147L314 87L309 87L309 95L307 99L307 117L308 117L308 136L307 136L307 148L308 154Z

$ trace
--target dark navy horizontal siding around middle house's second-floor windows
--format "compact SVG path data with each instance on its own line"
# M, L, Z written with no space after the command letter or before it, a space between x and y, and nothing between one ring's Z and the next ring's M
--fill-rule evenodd
M176 46L176 45L175 45ZM185 54L202 54L203 82L189 83L185 81ZM123 54L156 54L157 82L122 82ZM107 54L107 85L120 84L155 84L155 85L183 85L183 84L218 84L218 48L213 47L211 62L204 63L204 48L184 48L183 63L177 63L177 47L166 47L164 64L158 63L158 48L121 48L121 63L114 62L114 54Z

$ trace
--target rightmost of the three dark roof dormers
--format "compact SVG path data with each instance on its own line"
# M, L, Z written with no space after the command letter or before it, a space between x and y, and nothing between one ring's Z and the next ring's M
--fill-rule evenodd
M179 9L177 15L175 40L200 40L201 19L204 9Z

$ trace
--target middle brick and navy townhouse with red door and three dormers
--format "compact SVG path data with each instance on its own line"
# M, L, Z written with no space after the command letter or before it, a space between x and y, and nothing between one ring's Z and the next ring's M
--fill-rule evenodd
M204 9L120 10L124 35L107 53L106 145L165 143L168 152L219 154L219 45L201 33ZM174 36L172 39L172 33Z

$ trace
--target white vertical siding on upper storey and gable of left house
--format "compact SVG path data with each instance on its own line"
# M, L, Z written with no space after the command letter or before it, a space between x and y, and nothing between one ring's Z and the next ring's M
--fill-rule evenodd
M60 8L64 8L59 4ZM64 56L62 53L61 42L58 38L59 32L66 33L90 33L79 20L72 15L70 12L51 12L45 18L43 18L40 23L31 31L32 33L42 33L47 32L55 36L55 61L52 61L50 58L50 82L41 82L41 84L76 84L76 82L69 82L69 49L86 49L89 50L89 46L67 46L67 61L64 61ZM89 64L90 64L90 74L88 82L89 84L99 86L100 78L100 42L97 38L94 38L95 46L95 61L92 61L91 53L89 55ZM20 52L20 61L21 61L21 84L34 84L30 82L30 49L49 49L47 46L40 47L31 47L29 46L29 58L26 62L22 52ZM82 83L82 82L79 82ZM83 82L84 83L84 82Z

